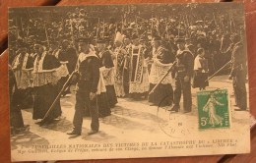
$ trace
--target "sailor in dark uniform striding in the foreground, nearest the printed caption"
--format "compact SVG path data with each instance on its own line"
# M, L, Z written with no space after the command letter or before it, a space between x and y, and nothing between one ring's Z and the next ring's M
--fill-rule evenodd
M92 117L92 131L88 135L93 135L98 132L99 128L96 91L99 81L100 61L95 52L90 51L89 39L81 38L79 40L79 50L85 54L85 58L78 65L79 80L73 119L74 129L68 135L81 135L85 107L90 110Z

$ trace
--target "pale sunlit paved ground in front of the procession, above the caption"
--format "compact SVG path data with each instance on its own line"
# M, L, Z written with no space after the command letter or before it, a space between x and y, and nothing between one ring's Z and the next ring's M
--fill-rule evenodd
M222 81L219 81L219 80ZM230 91L231 105L234 104L231 81L226 76L215 78L207 89L217 87L228 88ZM249 112L234 112L231 108L231 128L228 131L223 129L199 131L198 113L196 108L196 91L192 89L193 111L188 114L172 113L165 108L150 106L146 100L132 101L129 98L119 98L118 104L111 110L111 115L100 118L99 133L94 136L87 136L90 130L90 118L84 118L82 136L68 136L67 132L72 130L72 119L74 115L74 94L61 98L63 115L59 121L51 125L39 127L32 120L32 109L23 110L25 124L30 125L26 132L11 136L11 147L13 153L19 153L21 148L30 148L38 144L60 144L68 143L105 143L105 142L138 142L145 140L182 140L185 138L198 138L216 135L225 137L235 134L238 137L244 133L244 126L248 124L246 119ZM182 99L181 99L182 101ZM182 106L182 104L181 104ZM181 108L182 109L182 108ZM247 135L246 135L247 136ZM227 137L227 136L226 136Z

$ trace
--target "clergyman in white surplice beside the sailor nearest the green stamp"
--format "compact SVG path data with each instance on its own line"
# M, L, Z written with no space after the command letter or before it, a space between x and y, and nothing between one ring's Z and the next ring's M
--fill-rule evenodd
M174 61L174 54L171 54L167 49L161 45L160 36L153 39L153 64L150 74L150 88L152 89L159 83L161 78L166 74ZM149 95L149 101L153 105L169 106L173 101L173 89L171 86L171 75L169 74L163 81L160 82L159 87ZM167 98L165 98L167 97Z

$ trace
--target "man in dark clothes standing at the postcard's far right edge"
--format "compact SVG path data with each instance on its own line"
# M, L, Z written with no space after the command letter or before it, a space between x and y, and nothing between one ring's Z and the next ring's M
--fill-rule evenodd
M246 93L246 56L244 55L244 46L241 42L240 35L232 35L230 37L234 46L231 55L231 72L229 79L233 80L233 91L236 105L239 109L236 111L244 111L247 109L247 93Z

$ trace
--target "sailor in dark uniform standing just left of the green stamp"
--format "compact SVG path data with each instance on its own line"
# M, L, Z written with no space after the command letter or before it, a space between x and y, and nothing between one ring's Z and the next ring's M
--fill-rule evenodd
M191 77L193 75L194 59L191 52L185 47L185 39L176 40L178 51L176 54L176 65L172 71L172 77L175 79L174 105L170 111L178 112L180 106L181 92L183 93L184 113L191 112Z

